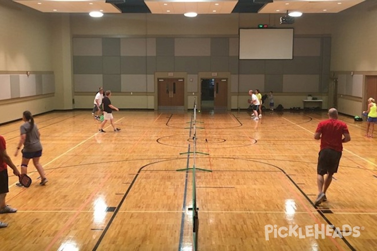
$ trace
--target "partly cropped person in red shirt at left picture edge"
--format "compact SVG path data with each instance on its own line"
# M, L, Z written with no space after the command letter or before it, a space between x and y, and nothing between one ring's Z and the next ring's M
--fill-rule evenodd
M13 164L11 158L6 153L5 139L0 136L0 214L2 213L15 213L17 209L9 207L5 202L5 196L9 192L8 189L8 170L6 169L10 166L13 169L13 173L16 176L20 175L17 167ZM7 223L0 221L0 228L8 226Z

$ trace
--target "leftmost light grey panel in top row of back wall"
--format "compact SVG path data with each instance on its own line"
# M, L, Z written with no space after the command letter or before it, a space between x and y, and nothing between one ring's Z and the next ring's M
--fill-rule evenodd
M101 38L73 38L74 56L102 56Z

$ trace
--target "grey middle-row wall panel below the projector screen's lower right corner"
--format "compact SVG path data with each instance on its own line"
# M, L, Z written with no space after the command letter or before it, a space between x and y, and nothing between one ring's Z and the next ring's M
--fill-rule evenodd
M284 74L307 75L320 74L320 57L296 57L293 60L284 60Z

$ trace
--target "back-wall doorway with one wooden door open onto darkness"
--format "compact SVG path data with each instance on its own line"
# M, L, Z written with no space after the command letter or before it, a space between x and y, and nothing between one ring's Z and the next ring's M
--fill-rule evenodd
M201 79L201 109L227 110L228 79L202 78Z

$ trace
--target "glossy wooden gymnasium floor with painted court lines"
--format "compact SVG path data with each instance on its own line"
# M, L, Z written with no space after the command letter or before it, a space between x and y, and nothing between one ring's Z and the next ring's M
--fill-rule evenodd
M0 229L1 250L192 250L192 173L176 171L193 167L192 111L114 117L120 132L108 123L98 133L90 111L35 117L49 182L39 186L30 163L32 186L15 187L8 168L7 203L18 211L0 214L9 223ZM325 118L326 112L267 112L256 122L245 111L197 114L195 167L212 170L196 172L199 250L376 250L377 135L366 138L365 122L340 117L351 142L328 201L317 208L313 133ZM16 165L20 125L0 126ZM359 227L359 236L347 229L343 238L333 236L331 227L326 236L310 236L321 224ZM274 225L297 228L275 238L265 231Z

